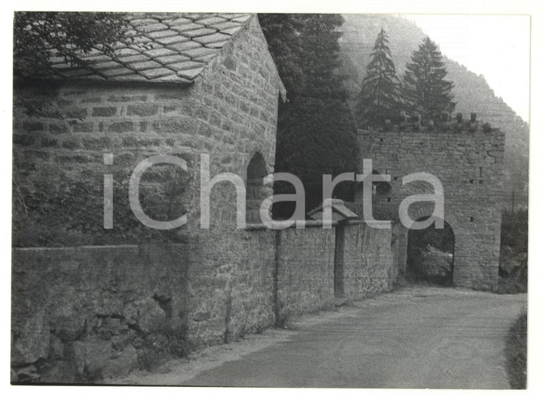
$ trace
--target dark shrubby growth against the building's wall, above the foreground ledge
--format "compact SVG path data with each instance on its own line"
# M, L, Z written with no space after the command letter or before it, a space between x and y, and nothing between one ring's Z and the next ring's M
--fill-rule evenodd
M15 247L79 246L184 242L182 228L159 231L140 223L129 204L129 177L123 167L113 173L112 229L104 228L104 180L101 176L74 181L62 168L44 166L33 182L14 173L12 244ZM176 181L172 181L176 180ZM140 183L144 213L171 221L186 213L189 176L180 168L156 165Z

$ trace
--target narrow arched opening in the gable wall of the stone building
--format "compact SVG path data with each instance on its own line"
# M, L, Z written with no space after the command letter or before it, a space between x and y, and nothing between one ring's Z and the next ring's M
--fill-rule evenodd
M247 165L246 222L260 223L260 206L264 198L271 194L264 186L264 176L268 175L266 161L256 152Z

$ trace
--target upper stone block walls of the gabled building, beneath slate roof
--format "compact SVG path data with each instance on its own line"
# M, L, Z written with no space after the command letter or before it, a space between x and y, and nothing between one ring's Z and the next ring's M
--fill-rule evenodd
M127 198L135 166L159 154L183 158L188 170L149 168L141 182L141 205L151 218L162 221L187 213L184 236L169 234L171 241L184 241L199 225L200 153L210 156L211 177L232 172L246 181L256 152L264 158L267 173L273 172L281 89L256 16L193 86L77 81L16 86L17 102L43 105L55 99L64 115L36 118L20 106L14 110L16 246L161 238L163 234L139 225ZM104 165L104 153L113 153L112 166ZM104 173L114 175L111 231L103 228ZM234 196L228 183L214 187L212 228L224 230L235 223Z

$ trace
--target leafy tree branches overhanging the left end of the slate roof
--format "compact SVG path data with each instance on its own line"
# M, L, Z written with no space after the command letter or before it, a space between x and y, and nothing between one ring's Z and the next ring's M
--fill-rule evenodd
M14 16L14 75L22 78L53 74L51 59L83 65L78 54L101 49L113 56L124 41L128 21L111 12L16 12Z

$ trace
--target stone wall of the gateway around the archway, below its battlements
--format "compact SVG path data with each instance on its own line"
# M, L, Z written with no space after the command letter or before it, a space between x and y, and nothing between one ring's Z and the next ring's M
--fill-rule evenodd
M432 186L420 181L402 186L404 176L418 172L437 176L444 187L444 220L455 237L454 284L497 288L504 134L496 129L359 131L359 146L362 158L372 158L374 169L392 177L392 189L375 196L374 216L397 220L404 198L434 193ZM433 205L415 204L409 214L414 220L429 216Z

